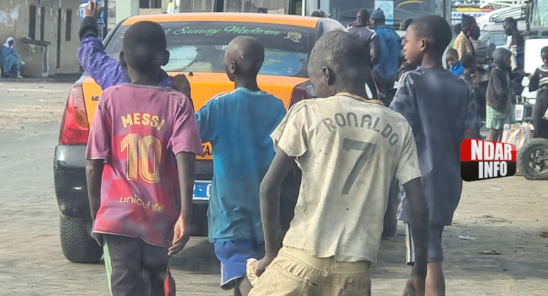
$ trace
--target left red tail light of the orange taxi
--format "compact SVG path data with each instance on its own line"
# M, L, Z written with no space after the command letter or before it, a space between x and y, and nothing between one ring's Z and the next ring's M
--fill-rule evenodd
M81 84L73 85L69 99L66 100L59 143L85 144L88 134L90 134L90 126L87 124L83 88Z

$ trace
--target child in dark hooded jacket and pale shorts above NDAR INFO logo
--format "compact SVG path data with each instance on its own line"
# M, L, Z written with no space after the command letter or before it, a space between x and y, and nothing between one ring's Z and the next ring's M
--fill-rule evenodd
M500 141L503 137L503 127L512 113L512 88L510 87L510 57L512 52L506 48L498 48L493 52L493 68L489 77L486 92L486 122L489 130L489 141Z

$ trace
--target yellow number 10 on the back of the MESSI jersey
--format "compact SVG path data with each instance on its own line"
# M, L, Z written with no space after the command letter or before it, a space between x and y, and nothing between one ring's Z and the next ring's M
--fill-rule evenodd
M153 149L153 169L150 171L150 146ZM141 175L144 181L148 183L157 183L160 181L160 160L162 159L162 142L154 136L143 136L141 141L137 141L137 134L127 134L120 143L120 151L127 153L127 180L136 181L137 176Z

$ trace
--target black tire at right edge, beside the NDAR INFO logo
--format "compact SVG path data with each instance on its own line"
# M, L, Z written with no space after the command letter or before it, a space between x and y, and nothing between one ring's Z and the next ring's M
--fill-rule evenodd
M548 139L537 138L527 141L517 155L519 174L527 180L548 180L548 161L538 160L547 151Z

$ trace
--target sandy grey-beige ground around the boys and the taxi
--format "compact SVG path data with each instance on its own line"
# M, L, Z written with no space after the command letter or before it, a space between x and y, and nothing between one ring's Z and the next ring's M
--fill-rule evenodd
M68 262L59 246L52 157L69 87L0 80L0 295L108 295L102 262ZM547 209L548 181L465 183L443 237L447 295L548 295ZM401 235L382 241L373 295L401 295L404 251ZM192 238L174 259L178 295L232 295L218 267L211 244Z

